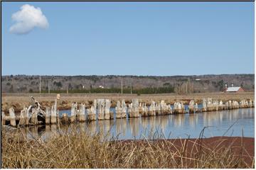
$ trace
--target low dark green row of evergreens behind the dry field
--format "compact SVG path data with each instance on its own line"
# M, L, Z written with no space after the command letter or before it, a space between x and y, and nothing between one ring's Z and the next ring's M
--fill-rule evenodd
M36 91L39 93L39 91ZM169 94L169 93L174 93L174 87L168 86L168 87L159 87L159 88L143 88L143 89L132 89L132 94ZM41 91L43 94L47 94L48 91ZM101 89L101 88L96 88L96 89L72 89L72 90L51 90L50 93L56 93L56 94L131 94L131 89L129 88L124 88L118 89L118 88L111 88L111 89Z

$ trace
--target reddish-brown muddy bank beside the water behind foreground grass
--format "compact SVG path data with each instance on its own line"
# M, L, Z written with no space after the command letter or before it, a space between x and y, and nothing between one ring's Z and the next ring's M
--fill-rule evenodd
M193 167L191 159L203 157L203 155L223 154L244 161L247 166L252 165L255 157L254 137L209 137L200 139L169 139L169 140L120 140L122 146L140 147L151 145L152 149L165 149L169 152L183 154L183 164L188 168ZM183 151L183 153L181 153ZM209 157L209 159L211 159ZM225 158L223 158L225 159ZM221 162L222 160L220 160ZM224 160L223 160L224 161ZM207 166L206 166L207 168Z

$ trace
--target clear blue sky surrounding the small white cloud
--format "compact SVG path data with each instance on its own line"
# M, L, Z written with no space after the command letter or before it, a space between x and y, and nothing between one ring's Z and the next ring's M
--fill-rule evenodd
M48 28L10 32L29 4ZM254 2L2 2L1 73L254 73Z

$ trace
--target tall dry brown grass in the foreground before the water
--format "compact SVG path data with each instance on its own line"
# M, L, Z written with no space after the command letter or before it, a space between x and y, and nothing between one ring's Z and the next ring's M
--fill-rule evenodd
M209 146L198 140L120 141L100 134L63 132L47 142L26 140L21 131L2 131L3 168L253 168L246 151L225 140ZM207 142L206 142L207 143ZM241 142L242 143L242 142ZM245 154L245 155L244 155Z

